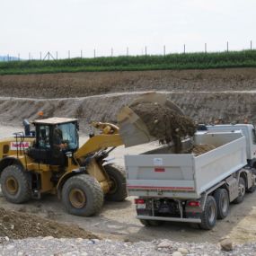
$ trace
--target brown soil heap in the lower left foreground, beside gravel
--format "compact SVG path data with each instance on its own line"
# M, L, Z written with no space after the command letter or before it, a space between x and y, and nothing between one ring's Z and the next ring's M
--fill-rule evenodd
M98 238L84 231L78 225L64 225L27 213L15 212L0 208L0 237L22 239L37 236Z

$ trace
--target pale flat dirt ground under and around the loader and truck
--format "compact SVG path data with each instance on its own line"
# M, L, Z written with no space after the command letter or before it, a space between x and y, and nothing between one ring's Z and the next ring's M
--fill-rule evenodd
M8 136L13 132L22 130L1 126L1 135ZM81 143L87 137L82 136ZM133 146L124 148L120 146L110 160L124 167L124 154L139 154L155 146ZM112 158L115 159L112 159ZM61 202L54 196L46 195L40 200L31 200L22 205L13 205L7 202L0 193L0 206L15 210L23 214L42 216L49 220L78 225L99 237L120 241L137 242L158 239L170 239L187 243L218 243L223 237L229 236L234 243L256 242L256 192L246 194L242 205L232 205L230 214L224 220L217 221L212 231L203 231L194 226L181 223L166 223L159 227L145 227L136 219L134 198L129 197L124 202L105 202L99 216L82 217L71 216L65 212Z

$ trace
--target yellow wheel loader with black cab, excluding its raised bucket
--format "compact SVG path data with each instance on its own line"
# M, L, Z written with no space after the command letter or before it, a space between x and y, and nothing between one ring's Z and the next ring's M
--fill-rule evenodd
M126 199L125 173L106 161L123 145L117 126L94 122L99 132L79 147L77 119L36 119L33 131L27 120L24 125L24 132L0 140L5 199L20 204L56 194L67 212L76 216L99 213L103 199Z

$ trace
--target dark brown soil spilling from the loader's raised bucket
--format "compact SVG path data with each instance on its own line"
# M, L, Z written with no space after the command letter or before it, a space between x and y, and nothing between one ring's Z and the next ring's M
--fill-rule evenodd
M143 102L130 108L144 121L149 133L161 144L174 145L175 153L181 153L181 138L193 136L196 126L192 119L156 102Z

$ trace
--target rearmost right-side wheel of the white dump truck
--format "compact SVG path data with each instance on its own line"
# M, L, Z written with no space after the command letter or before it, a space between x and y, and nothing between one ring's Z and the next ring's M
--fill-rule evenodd
M207 197L205 209L201 214L200 228L210 230L216 225L216 200L212 196Z

